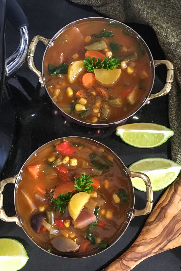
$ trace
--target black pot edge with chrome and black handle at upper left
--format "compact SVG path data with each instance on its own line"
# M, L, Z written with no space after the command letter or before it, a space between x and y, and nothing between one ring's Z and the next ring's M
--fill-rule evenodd
M16 51L6 59L5 50L5 19L8 19L20 32L20 44ZM28 21L15 0L0 1L0 108L4 91L4 82L21 65L23 65L28 50Z

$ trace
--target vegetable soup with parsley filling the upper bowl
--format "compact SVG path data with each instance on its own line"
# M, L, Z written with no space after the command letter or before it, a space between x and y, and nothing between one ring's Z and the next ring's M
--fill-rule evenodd
M43 74L49 95L84 122L128 117L141 107L153 82L148 49L141 43L122 24L75 24L46 50Z

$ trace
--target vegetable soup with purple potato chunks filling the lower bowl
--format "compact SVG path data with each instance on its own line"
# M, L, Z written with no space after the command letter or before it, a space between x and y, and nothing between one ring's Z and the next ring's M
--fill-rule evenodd
M127 227L134 197L130 183L107 147L79 137L56 140L23 166L17 213L45 250L85 257L109 247Z

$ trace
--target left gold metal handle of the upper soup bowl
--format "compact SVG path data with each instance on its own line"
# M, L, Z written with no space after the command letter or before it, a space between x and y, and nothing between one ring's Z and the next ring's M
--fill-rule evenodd
M37 70L34 65L34 52L36 49L36 45L39 41L42 41L45 44L45 46L47 46L50 40L42 36L34 36L28 48L27 62L30 70L32 70L38 76L41 86L44 86L42 73L39 70Z

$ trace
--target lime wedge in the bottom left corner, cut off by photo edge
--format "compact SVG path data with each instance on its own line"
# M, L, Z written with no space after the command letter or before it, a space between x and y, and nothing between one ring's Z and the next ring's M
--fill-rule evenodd
M28 259L26 250L20 242L11 238L0 238L0 270L19 270Z

